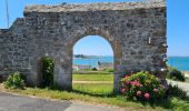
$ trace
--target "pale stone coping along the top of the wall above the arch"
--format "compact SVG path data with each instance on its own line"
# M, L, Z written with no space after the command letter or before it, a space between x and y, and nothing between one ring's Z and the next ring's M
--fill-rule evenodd
M103 2L103 3L81 3L81 4L57 4L57 6L27 6L24 12L68 12L68 11L100 11L100 10L129 10L149 9L166 7L166 2Z

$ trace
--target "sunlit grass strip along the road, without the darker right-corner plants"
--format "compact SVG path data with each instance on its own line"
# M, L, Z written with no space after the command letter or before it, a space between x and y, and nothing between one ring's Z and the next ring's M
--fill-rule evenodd
M40 98L51 98L51 99L59 99L59 100L80 100L80 101L98 103L98 104L117 105L129 110L166 111L166 109L161 107L153 108L149 104L143 105L139 102L126 100L121 95L98 97L98 95L78 93L74 91L67 92L60 90L38 89L38 88L27 88L26 90L9 90L9 91L20 93L20 94L36 95Z

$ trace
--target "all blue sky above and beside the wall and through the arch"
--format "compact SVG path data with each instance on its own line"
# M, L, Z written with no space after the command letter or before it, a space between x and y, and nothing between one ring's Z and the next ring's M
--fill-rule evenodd
M6 0L0 0L0 29L7 28ZM87 3L87 2L119 2L133 0L8 0L10 24L16 18L23 17L26 4L58 4ZM138 0L139 1L139 0ZM167 0L168 6L168 56L189 57L189 0ZM83 54L112 54L110 44L99 37L86 37L74 46L74 53Z

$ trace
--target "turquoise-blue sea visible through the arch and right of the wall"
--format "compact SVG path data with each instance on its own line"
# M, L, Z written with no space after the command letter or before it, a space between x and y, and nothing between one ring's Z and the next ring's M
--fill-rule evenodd
M73 64L84 64L90 67L97 67L98 61L113 63L112 56L98 56L96 58L74 58ZM179 69L180 71L189 71L189 57L168 57L168 65Z

